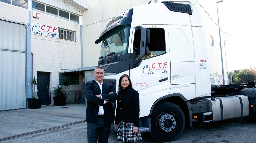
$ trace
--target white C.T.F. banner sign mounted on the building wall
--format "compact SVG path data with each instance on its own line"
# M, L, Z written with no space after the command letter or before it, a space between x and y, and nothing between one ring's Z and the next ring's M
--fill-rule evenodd
M59 28L31 21L31 34L59 38Z

